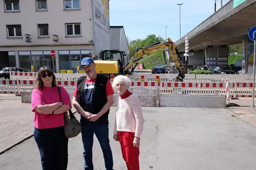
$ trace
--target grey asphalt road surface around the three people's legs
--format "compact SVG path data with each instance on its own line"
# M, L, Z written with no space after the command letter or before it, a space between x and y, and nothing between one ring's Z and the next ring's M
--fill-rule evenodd
M113 140L116 107L110 108L109 138L114 169L125 170L120 144ZM143 107L146 120L141 136L140 169L246 170L256 169L256 130L224 109ZM104 170L96 137L95 170ZM83 169L81 135L69 140L68 170ZM34 138L0 155L1 170L40 170Z

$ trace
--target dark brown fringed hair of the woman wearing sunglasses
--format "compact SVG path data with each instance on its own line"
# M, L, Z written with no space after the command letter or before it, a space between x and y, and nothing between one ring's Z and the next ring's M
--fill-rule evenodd
M46 74L46 72L48 74L52 75L52 87L57 86L56 78L55 78L55 75L54 75L54 72L52 71L52 69L49 67L41 67L37 72L36 88L42 89L44 87L44 82L42 82L41 77L42 77L42 75Z

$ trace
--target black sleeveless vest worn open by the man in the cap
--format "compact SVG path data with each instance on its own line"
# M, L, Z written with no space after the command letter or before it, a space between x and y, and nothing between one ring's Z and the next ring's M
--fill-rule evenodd
M84 100L84 84L87 77L82 76L77 80L77 93L76 93L76 100L80 104L80 106L86 111L85 109L85 100ZM95 114L99 113L103 106L107 103L107 96L106 96L106 84L108 81L108 77L104 75L97 74L97 78L95 81L95 86L93 89L93 96L92 96L92 106L95 111ZM108 114L109 110L107 110L106 113L104 113L96 122L102 123L102 124L108 124ZM88 119L81 116L81 123L90 122Z

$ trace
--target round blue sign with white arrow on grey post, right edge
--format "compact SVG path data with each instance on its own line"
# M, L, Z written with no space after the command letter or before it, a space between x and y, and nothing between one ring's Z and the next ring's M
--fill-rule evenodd
M254 52L253 52L253 105L252 108L254 108L254 88L255 88L255 55L256 55L256 26L253 26L250 28L248 32L248 37L254 41Z

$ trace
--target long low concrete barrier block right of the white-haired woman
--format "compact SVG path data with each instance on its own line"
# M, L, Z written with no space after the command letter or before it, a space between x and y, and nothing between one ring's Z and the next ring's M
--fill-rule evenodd
M159 106L226 108L226 97L219 95L160 95Z

